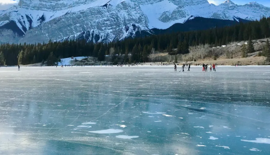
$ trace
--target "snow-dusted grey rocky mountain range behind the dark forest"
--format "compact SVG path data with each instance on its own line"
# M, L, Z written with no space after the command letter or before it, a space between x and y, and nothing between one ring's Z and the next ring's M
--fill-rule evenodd
M193 17L259 20L270 8L250 2L220 5L207 0L20 0L0 11L1 42L47 42L85 37L112 41L138 31L167 29Z

